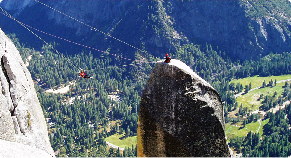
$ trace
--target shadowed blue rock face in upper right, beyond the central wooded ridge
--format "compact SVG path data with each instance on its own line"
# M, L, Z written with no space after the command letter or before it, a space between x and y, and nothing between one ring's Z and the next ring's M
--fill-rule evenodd
M260 8L248 1L169 1L168 6L168 15L175 19L174 28L191 41L219 46L231 57L256 59L258 54L290 51L290 13L284 14L279 6L274 6L270 14L263 14L261 9L257 17L248 12L259 12ZM280 11L279 19L276 15Z

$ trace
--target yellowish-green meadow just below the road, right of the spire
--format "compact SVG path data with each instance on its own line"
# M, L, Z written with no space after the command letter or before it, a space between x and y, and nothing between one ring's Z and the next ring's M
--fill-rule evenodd
M288 81L288 83L290 84L290 81ZM240 104L242 104L242 107L248 107L248 110L251 110L251 107L254 104L253 111L257 110L262 105L262 101L265 98L265 96L268 94L268 92L269 92L269 95L268 95L269 97L273 97L274 93L277 92L277 95L273 97L273 101L278 99L278 97L282 94L282 92L284 92L284 88L282 88L282 86L284 85L285 85L284 82L277 83L277 85L274 87L264 87L264 88L260 88L260 89L256 89L254 91L248 92L247 94L240 95L236 99L238 103L238 107L240 107ZM257 101L260 94L264 94L263 98Z

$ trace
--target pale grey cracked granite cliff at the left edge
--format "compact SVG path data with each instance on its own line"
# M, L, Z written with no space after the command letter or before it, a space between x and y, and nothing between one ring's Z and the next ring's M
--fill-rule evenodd
M2 30L0 33L1 157L9 153L12 157L24 153L28 154L25 157L33 157L35 150L55 157L31 74L13 42Z

